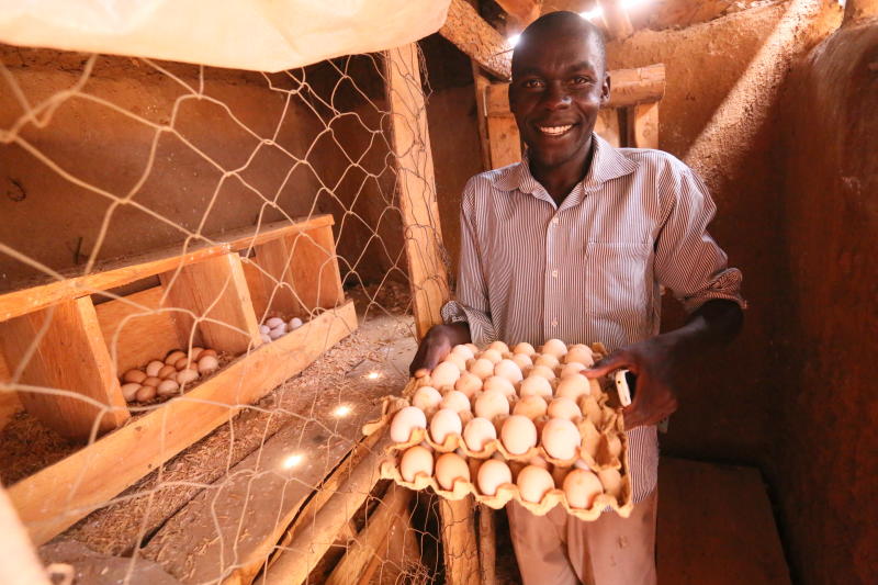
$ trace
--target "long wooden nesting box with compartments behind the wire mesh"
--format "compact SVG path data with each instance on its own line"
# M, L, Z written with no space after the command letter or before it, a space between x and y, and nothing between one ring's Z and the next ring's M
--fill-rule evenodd
M89 438L131 418L119 384L130 368L195 345L235 357L185 394L12 486L35 541L115 496L357 327L331 226L331 216L320 215L240 229L0 295L8 369L0 376L15 379L27 412L68 437ZM126 296L108 292L155 277L158 285ZM305 324L262 344L259 322L270 314ZM74 493L58 485L74 485Z

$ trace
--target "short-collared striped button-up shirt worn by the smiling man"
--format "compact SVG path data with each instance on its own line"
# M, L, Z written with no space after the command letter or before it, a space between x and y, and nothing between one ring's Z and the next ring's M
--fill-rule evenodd
M473 342L559 338L612 351L658 334L662 288L691 312L742 306L741 271L707 233L716 205L686 165L594 136L592 168L558 206L527 161L476 175L461 203L457 300ZM654 426L628 431L634 502L656 485Z

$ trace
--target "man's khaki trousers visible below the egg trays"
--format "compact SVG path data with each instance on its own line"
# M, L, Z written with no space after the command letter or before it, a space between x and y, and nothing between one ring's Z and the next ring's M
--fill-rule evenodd
M517 502L506 505L524 585L655 585L653 491L631 516L605 513L593 522L556 506L534 516Z

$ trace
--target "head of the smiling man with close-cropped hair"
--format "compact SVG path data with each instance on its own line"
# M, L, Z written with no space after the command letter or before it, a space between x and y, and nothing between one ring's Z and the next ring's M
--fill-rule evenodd
M604 37L590 22L550 12L521 33L509 106L532 161L556 167L587 153L609 92Z

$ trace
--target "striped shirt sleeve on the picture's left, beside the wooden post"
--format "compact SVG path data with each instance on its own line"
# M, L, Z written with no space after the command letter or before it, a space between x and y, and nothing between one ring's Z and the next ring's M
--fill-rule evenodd
M457 300L446 303L441 313L444 323L468 323L473 344L483 346L495 341L497 334L491 322L485 274L472 222L473 190L471 180L464 189L460 213L460 267Z

